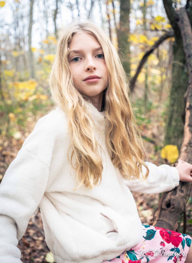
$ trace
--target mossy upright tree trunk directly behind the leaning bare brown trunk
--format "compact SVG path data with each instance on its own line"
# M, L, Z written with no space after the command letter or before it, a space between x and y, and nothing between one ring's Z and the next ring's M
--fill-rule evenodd
M169 95L169 109L166 120L164 144L177 145L180 150L184 128L182 119L185 109L183 97L187 89L188 74L185 66L186 60L183 50L183 40L180 28L175 20L176 13L172 6L172 0L163 0L163 4L175 36L175 42L173 44L172 85Z

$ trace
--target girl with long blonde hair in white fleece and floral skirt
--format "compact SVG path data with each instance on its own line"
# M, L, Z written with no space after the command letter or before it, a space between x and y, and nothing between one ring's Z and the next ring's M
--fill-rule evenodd
M126 74L101 28L60 33L50 88L55 108L0 185L0 262L21 262L17 244L38 205L57 263L191 262L191 237L142 225L130 190L172 190L192 181L192 165L144 162Z

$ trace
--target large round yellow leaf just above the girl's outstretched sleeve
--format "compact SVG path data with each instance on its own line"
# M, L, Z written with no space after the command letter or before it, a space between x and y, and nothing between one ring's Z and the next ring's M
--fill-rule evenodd
M177 145L167 144L161 150L161 157L167 159L170 163L175 163L179 157Z

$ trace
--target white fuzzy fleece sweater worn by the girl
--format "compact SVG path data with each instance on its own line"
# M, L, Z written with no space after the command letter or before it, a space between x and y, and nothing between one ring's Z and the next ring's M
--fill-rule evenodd
M77 184L75 169L67 159L67 116L57 107L40 118L0 185L1 263L21 262L17 244L38 205L46 243L57 263L101 263L115 258L142 238L142 223L130 190L161 193L179 185L175 167L148 162L147 183L123 180L106 147L105 113L88 105L95 136L103 148L100 186L73 191Z

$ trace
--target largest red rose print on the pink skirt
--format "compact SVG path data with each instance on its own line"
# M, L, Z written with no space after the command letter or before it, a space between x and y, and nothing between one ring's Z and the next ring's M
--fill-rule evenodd
M155 227L156 229L160 229L159 234L162 237L162 239L169 243L172 243L175 247L178 247L180 243L182 242L182 237L180 237L180 233L164 229L162 227Z

